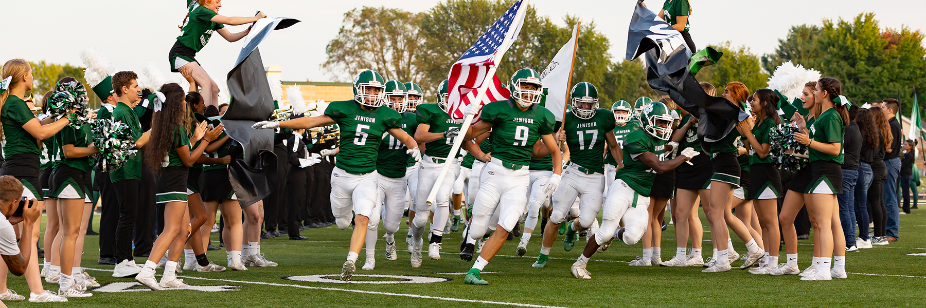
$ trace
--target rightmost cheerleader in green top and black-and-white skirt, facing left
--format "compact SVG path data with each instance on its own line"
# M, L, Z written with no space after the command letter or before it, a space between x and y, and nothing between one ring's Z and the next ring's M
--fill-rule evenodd
M849 113L839 80L824 77L817 81L814 102L822 113L810 125L808 133L795 133L795 139L809 148L811 169L810 185L804 190L807 208L816 219L814 250L820 252L820 264L813 273L801 280L830 280L845 278L845 235L839 221L839 203L836 194L843 192L845 161L843 136L849 124ZM835 257L833 257L835 256ZM830 268L832 263L832 269Z

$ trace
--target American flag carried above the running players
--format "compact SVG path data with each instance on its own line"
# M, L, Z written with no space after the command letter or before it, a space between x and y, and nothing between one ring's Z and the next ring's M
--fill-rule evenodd
M460 56L457 63L454 63L450 69L450 79L448 80L450 95L447 103L450 108L447 113L450 117L462 121L463 111L466 106L476 101L479 94L479 88L482 83L489 80L492 82L486 89L484 98L477 104L485 105L486 103L507 99L511 95L501 80L495 74L489 75L489 68L494 67L501 61L502 55L507 51L508 46L518 37L520 27L524 19L524 11L527 5L524 0L518 0L513 6L509 7L502 17L495 20L495 23L489 27L476 43ZM473 118L476 122L479 115Z

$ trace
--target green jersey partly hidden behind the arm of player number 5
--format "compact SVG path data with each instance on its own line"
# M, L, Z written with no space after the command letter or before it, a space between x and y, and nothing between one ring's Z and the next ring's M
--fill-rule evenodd
M415 117L415 114L410 112L402 114L402 130L405 130L409 135L414 135L415 127L418 126ZM380 142L380 153L376 156L376 171L380 172L382 176L393 179L405 177L409 159L411 159L412 164L415 163L415 158L407 154L407 150L405 143L395 139L393 135L389 133L383 135L382 142Z

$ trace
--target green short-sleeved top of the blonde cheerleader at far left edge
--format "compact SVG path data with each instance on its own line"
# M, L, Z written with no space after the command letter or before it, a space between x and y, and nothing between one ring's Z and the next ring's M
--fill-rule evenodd
M5 159L15 154L40 154L39 143L35 137L23 129L22 126L35 118L29 105L26 105L19 96L9 94L6 103L0 110L0 123L3 124L3 136L6 144L3 146Z

